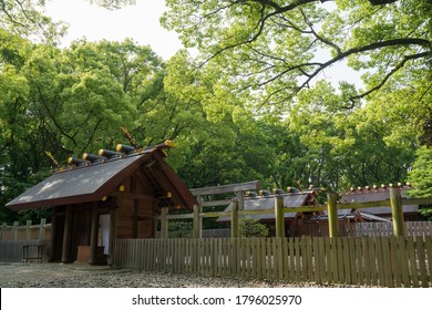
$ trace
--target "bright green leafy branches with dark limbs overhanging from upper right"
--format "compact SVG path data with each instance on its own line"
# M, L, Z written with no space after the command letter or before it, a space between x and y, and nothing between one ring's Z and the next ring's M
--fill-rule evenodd
M380 90L393 75L431 61L430 1L166 1L162 18L202 64L219 63L238 91L266 104L287 104L340 61L370 70L368 89L346 107Z

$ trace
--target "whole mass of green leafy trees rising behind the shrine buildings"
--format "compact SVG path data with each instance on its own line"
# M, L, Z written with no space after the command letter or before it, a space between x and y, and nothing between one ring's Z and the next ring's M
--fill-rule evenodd
M45 2L0 0L0 221L49 216L4 207L55 168L45 151L65 165L124 143L122 126L141 146L174 141L191 188L432 196L431 1L166 0L161 23L185 46L169 60L132 39L61 48ZM362 85L322 78L341 61Z

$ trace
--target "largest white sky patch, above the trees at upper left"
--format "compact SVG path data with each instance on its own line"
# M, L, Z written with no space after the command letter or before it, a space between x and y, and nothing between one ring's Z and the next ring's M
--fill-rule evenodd
M160 24L164 11L164 0L136 0L136 6L114 11L84 0L51 0L45 9L48 16L70 25L63 46L83 37L89 41L123 41L132 38L141 45L150 45L157 55L168 60L182 48L182 43L175 32L168 32Z

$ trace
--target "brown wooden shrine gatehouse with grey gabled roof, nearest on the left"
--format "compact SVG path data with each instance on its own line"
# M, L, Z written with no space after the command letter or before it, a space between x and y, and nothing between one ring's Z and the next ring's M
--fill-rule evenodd
M50 261L104 264L115 239L154 238L164 208L193 209L195 197L165 162L171 142L117 145L53 173L10 203L13 210L52 208ZM165 209L166 210L166 209Z

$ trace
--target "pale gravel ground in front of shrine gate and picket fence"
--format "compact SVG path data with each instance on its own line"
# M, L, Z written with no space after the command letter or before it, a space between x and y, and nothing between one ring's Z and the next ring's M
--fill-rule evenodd
M88 264L1 264L1 288L281 288L329 287L266 280L194 277ZM336 286L332 286L336 287ZM340 286L339 286L340 287Z

